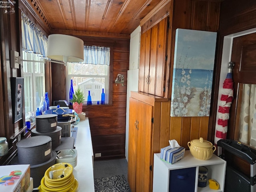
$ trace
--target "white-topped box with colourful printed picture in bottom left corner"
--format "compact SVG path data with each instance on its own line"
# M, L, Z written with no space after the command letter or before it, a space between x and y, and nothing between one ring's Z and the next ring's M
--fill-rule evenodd
M26 192L30 186L30 165L0 166L0 191Z

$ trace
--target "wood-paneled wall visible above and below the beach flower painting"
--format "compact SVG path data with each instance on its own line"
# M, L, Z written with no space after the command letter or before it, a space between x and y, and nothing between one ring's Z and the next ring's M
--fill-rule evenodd
M170 68L168 68L169 92L171 97L172 66L174 63L175 31L177 28L217 32L219 28L220 1L216 0L176 0L173 3L173 14L170 14ZM208 139L209 117L170 117L170 139L188 149L188 141L203 137ZM211 142L212 138L210 139Z

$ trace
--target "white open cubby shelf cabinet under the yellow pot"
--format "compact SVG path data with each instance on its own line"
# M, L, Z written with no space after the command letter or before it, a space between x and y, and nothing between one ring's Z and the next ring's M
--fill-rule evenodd
M213 179L220 185L218 190L209 188L209 183L204 188L197 186L199 166L208 168L208 179ZM226 161L213 154L209 160L194 158L189 150L185 151L183 159L174 164L169 164L160 159L160 153L154 154L153 192L169 192L170 173L178 169L195 168L195 192L223 192L226 172ZM173 184L173 183L172 183ZM175 183L177 184L177 183ZM170 191L178 192L178 191Z

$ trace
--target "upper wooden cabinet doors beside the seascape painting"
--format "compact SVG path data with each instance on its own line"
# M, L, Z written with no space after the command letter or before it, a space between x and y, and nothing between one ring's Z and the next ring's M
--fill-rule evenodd
M164 96L168 17L141 34L139 91Z

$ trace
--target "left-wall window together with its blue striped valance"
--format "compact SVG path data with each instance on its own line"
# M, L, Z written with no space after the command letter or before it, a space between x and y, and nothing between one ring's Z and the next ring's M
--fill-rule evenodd
M22 12L22 60L40 61L45 58L47 38L33 22ZM25 117L28 112L36 111L41 97L45 95L44 64L40 62L22 62L24 76Z

